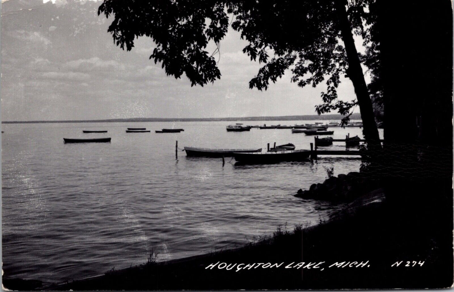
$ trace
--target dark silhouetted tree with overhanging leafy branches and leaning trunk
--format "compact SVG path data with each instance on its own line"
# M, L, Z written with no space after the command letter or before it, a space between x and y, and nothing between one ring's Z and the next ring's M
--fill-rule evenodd
M109 32L122 49L132 49L134 39L140 36L153 39L157 47L150 59L162 63L166 73L175 78L185 73L192 86L220 78L216 59L206 48L210 40L219 48L231 23L249 42L243 52L264 63L249 82L250 88L266 90L287 69L291 69L292 82L300 87L325 82L323 104L316 106L316 112L337 110L345 115L359 105L365 138L380 146L352 37L353 31L363 35L367 44L371 41L365 29L373 22L366 12L369 1L373 0L104 0L98 14L114 16ZM369 56L376 49L368 48ZM372 58L361 59L376 65ZM338 99L336 88L342 75L352 80L357 100ZM374 86L372 83L370 88Z

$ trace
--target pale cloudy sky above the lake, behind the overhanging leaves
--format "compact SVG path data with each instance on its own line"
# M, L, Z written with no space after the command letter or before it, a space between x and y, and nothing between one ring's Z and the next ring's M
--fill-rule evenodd
M242 53L247 42L232 29L217 56L220 80L191 87L186 76L166 76L148 59L151 39L137 39L129 52L115 46L99 4L2 0L2 121L311 115L321 103L325 86L298 88L290 71L267 91L249 89L262 64ZM355 99L349 79L338 94Z

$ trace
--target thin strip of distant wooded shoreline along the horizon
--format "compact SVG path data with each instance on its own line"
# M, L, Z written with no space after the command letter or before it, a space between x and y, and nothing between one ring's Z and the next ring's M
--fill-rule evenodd
M280 116L280 117L207 117L207 118L161 118L161 117L137 117L131 119L108 119L108 120L80 120L80 121L3 121L2 124L20 123L105 123L105 122L218 122L218 121L308 121L308 120L332 120L340 121L342 115L305 115L305 116ZM360 120L361 115L354 113L351 120Z

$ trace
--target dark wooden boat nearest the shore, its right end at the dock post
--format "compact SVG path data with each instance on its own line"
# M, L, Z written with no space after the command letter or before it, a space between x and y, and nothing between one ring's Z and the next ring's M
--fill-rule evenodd
M283 161L304 161L311 155L310 150L270 151L257 153L233 153L240 163L266 164Z

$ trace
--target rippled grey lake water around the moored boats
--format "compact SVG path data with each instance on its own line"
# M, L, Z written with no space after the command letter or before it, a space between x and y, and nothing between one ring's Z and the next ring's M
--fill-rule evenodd
M317 121L305 121L312 123ZM245 122L247 125L300 121ZM59 282L147 261L241 246L279 224L316 224L341 208L295 198L296 190L358 171L360 159L235 165L191 158L178 146L260 148L313 136L290 129L227 132L229 122L2 124L3 269L7 277ZM146 127L151 133L126 133ZM154 133L161 128L181 133ZM108 130L83 134L82 130ZM334 138L362 136L332 128ZM383 130L380 130L383 136ZM111 143L64 144L63 138L112 137ZM342 143L333 148L345 149Z

